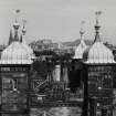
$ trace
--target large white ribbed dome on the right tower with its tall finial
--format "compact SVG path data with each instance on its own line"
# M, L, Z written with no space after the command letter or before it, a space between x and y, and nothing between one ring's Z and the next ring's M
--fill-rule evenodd
M96 24L95 24L95 31L96 31L96 35L95 35L95 40L94 40L94 44L85 50L83 56L86 60L85 63L115 63L114 61L114 55L112 53L112 51L104 45L104 43L101 41L99 38L99 23L98 23L98 17L102 12L98 11L96 12Z

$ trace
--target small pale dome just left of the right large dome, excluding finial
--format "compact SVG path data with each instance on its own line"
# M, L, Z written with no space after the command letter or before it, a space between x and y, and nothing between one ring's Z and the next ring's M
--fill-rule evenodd
M73 59L83 59L83 53L87 49L85 42L81 40L80 45L75 49L75 55Z

